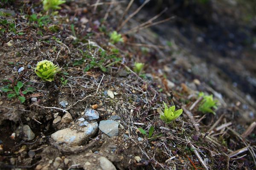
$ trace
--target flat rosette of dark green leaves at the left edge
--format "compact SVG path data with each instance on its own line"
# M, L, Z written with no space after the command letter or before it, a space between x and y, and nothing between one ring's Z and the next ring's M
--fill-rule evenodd
M36 91L35 88L33 87L28 87L25 90L22 90L23 88L23 82L17 82L16 85L12 85L10 83L8 83L8 85L4 86L3 88L0 88L1 91L8 93L7 97L9 99L12 99L14 97L17 97L21 103L25 102L26 98L25 98L25 94L29 93L29 92L34 92Z

